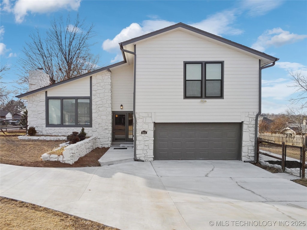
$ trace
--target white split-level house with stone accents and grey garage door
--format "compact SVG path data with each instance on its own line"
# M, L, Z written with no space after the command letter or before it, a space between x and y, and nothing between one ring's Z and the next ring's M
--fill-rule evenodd
M119 45L124 61L53 85L31 71L28 125L134 142L136 160L254 160L261 70L277 58L183 23Z

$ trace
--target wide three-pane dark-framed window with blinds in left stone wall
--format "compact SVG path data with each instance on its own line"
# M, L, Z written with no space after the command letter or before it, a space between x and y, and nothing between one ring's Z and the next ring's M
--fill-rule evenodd
M47 127L91 127L90 98L47 98Z

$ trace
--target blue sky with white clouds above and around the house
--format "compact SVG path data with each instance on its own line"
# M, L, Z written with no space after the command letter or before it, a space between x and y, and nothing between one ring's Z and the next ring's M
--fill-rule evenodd
M122 60L119 42L178 22L222 36L279 58L262 71L262 112L282 113L295 97L288 71L307 66L307 1L0 1L0 60L10 70L2 82L17 80L22 46L36 27L68 13L95 25L91 40L103 67ZM14 83L10 84L14 86Z

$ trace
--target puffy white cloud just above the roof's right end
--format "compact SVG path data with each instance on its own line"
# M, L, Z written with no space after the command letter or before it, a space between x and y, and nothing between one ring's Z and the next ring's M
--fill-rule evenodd
M262 33L262 35L258 37L257 41L252 44L251 48L264 52L267 47L279 47L285 44L291 44L306 37L307 35L298 35L282 30L281 28L274 28L266 30L264 33Z

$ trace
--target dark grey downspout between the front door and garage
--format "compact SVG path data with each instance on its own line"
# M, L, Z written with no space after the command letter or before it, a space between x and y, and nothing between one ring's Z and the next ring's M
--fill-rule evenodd
M142 161L144 162L144 160L142 159L138 159L136 157L136 115L135 115L135 80L136 80L136 45L134 45L134 52L131 52L129 50L125 50L123 47L122 47L122 44L119 43L119 47L120 47L120 50L122 51L123 53L123 56L124 56L124 59L126 60L125 58L125 55L124 55L124 52L127 52L127 53L130 53L130 54L133 54L134 55L134 68L133 68L133 120L134 120L134 140L133 140L133 151L134 151L134 161Z

